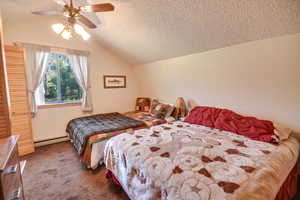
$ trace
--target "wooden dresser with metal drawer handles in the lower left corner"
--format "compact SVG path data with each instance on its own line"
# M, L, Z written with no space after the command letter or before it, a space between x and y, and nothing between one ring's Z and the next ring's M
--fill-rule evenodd
M18 136L10 136L0 140L0 200L24 200L25 162L19 160L18 139Z

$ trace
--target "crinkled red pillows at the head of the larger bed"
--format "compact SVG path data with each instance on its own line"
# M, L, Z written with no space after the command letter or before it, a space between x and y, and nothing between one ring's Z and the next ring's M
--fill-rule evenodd
M234 132L263 142L273 142L275 137L271 121L242 116L227 109L195 107L184 121Z

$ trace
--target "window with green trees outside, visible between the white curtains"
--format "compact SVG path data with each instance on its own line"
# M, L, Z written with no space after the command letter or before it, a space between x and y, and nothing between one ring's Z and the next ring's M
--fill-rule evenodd
M43 83L45 104L80 102L82 99L83 90L66 55L50 54Z

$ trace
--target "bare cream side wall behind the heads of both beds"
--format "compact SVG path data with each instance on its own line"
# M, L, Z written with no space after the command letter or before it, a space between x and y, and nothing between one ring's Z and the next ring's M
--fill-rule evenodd
M224 107L300 131L300 34L135 67L141 96Z

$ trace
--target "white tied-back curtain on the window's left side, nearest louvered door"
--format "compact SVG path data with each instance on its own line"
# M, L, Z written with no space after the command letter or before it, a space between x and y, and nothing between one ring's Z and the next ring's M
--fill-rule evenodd
M28 89L30 93L31 112L35 116L37 106L44 102L44 88L40 87L48 69L50 48L24 46L26 49Z

